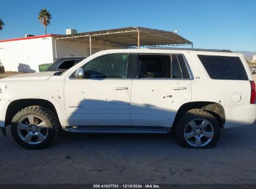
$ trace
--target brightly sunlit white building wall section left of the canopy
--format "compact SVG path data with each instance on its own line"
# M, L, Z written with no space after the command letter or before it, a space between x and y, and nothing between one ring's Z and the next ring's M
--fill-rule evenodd
M38 72L38 65L54 62L52 37L0 42L7 71Z

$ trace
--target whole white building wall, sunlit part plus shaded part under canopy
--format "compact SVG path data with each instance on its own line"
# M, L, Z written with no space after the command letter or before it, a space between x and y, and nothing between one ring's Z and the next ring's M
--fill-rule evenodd
M102 45L93 41L92 53L122 48L114 44L99 43ZM69 56L90 56L90 45L87 42L55 40L54 37L0 42L0 59L6 71L38 72L40 64L53 63L57 58Z

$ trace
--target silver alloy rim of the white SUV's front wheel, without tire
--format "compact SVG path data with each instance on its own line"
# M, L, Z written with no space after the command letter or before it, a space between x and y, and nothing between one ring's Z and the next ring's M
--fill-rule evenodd
M25 116L17 124L17 132L27 144L40 144L48 135L47 124L38 116Z

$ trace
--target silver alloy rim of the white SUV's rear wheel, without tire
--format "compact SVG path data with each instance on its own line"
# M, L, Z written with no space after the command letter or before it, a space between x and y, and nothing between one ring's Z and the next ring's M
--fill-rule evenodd
M194 147L204 147L214 137L214 127L207 119L193 119L184 129L184 138Z

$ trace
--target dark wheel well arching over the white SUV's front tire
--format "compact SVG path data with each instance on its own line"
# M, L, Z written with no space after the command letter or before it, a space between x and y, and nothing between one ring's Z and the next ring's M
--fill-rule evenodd
M56 116L58 116L57 111L54 107L54 104L50 103L50 101L47 101L45 99L17 99L15 101L12 101L7 108L5 126L8 126L9 124L11 124L13 116L18 111L20 111L23 108L26 108L27 106L35 106L35 105L49 108L55 113Z

